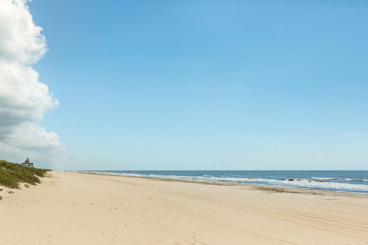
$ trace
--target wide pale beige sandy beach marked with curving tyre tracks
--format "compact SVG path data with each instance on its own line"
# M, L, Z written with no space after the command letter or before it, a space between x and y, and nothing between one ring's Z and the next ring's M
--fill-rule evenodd
M368 195L50 172L0 195L0 244L368 244Z

